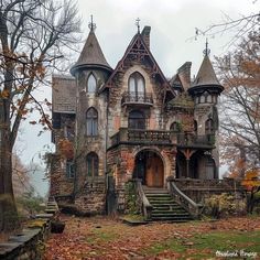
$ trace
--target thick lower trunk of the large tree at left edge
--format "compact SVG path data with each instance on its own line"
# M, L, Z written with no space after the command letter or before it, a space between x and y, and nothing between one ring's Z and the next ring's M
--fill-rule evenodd
M0 230L11 232L20 227L12 187L12 145L10 130L0 126Z

